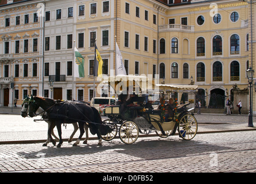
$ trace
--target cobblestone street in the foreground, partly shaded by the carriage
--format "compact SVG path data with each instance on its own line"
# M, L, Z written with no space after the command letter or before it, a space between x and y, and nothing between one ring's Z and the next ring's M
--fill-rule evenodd
M126 145L115 139L62 148L42 144L0 145L0 172L255 172L255 131L144 137ZM98 178L101 179L101 178Z

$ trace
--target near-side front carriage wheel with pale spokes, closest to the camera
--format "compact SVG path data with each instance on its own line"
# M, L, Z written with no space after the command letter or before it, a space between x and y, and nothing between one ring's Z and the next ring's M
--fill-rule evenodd
M139 135L139 129L133 121L123 122L119 128L119 137L125 144L133 144Z

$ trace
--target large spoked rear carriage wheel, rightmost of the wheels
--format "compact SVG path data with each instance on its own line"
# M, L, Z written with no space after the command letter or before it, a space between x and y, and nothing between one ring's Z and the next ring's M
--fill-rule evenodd
M191 140L197 134L197 120L191 114L185 114L179 121L179 136Z

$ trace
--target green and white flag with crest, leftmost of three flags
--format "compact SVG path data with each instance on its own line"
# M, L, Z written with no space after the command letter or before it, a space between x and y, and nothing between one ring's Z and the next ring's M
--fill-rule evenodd
M74 77L84 77L84 57L74 48Z

